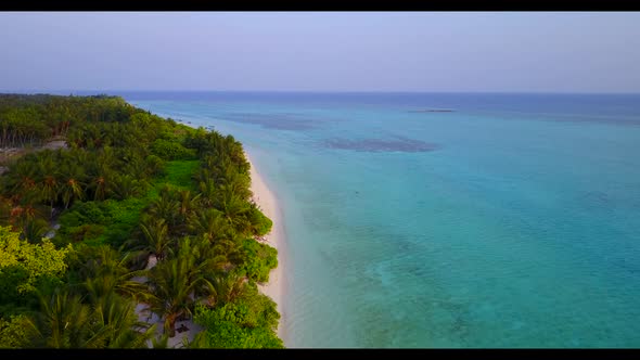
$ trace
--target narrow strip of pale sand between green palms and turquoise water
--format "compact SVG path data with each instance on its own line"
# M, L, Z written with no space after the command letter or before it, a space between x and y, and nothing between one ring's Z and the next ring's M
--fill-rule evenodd
M274 247L278 250L278 267L272 269L269 273L269 282L265 284L258 284L258 290L264 295L269 296L274 303L278 312L280 313L280 320L278 321L278 337L285 343L284 333L284 321L285 312L283 307L283 299L286 293L286 283L284 279L284 267L286 263L285 241L284 241L284 228L282 224L282 213L278 206L278 198L267 187L265 180L260 176L258 169L254 166L248 152L244 151L244 156L251 165L251 191L253 193L253 200L258 205L260 210L273 221L271 231L265 235L266 243L269 246ZM286 345L285 345L286 346Z

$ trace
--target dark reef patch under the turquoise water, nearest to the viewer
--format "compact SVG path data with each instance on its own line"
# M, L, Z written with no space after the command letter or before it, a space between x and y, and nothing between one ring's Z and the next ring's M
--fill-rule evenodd
M359 152L381 153L381 152L402 152L402 153L423 153L440 149L439 145L424 142L421 140L396 137L394 140L384 139L330 139L324 142L329 149L354 150Z

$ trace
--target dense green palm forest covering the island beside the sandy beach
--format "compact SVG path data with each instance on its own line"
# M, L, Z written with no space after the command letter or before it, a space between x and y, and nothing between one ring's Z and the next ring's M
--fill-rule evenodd
M0 147L52 139L68 147L0 177L0 347L163 347L193 317L190 347L282 347L256 287L278 265L256 241L272 222L233 137L116 97L0 95Z

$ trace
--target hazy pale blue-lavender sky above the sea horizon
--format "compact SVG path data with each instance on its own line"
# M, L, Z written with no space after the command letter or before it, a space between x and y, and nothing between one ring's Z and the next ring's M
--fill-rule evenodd
M640 12L0 12L0 91L640 92Z

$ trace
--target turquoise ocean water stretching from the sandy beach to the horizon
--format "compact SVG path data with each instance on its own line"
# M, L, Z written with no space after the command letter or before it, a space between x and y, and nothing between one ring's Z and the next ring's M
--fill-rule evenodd
M640 95L120 94L252 154L287 347L640 346Z

